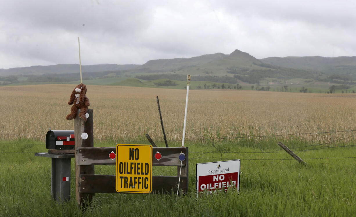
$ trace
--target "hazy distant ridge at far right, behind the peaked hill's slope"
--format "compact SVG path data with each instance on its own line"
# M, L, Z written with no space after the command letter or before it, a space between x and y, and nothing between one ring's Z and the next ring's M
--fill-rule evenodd
M329 75L356 75L356 56L287 56L268 57L260 61L274 66L320 71Z

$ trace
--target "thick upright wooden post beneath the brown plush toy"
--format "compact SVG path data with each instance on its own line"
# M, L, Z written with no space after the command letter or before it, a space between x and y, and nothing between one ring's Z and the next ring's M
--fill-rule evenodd
M78 110L78 114L79 114ZM94 165L79 165L77 162L78 147L94 147L94 132L93 132L93 110L88 109L89 117L87 121L82 120L77 117L74 119L74 137L75 137L75 197L80 206L83 205L84 201L90 203L94 196L94 193L81 193L80 190L80 180L81 174L94 174ZM87 133L87 138L85 134ZM82 138L83 137L83 138ZM83 187L84 188L84 187Z

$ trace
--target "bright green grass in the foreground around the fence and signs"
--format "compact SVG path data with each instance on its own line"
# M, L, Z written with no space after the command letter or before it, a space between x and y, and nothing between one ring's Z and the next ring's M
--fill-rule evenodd
M356 157L355 147L297 152L308 163L302 166L281 151L278 141L278 138L246 138L214 143L186 141L185 145L189 147L189 192L186 196L177 198L174 192L169 195L96 193L91 205L79 210L74 196L73 159L72 197L61 205L51 199L51 160L34 155L35 152L46 151L45 144L23 139L0 140L0 216L355 215L355 158L328 158ZM285 145L293 150L326 147L310 146L314 144L298 138L288 141ZM147 142L143 140L141 143ZM169 145L180 146L179 142ZM115 142L95 143L95 146L115 146ZM163 147L164 144L159 143L158 146ZM269 160L283 158L285 160ZM241 159L239 192L197 198L195 164L220 159ZM154 167L153 173L165 174L169 172L167 168L170 167ZM172 167L172 171L175 170ZM114 174L115 167L95 166L95 173Z

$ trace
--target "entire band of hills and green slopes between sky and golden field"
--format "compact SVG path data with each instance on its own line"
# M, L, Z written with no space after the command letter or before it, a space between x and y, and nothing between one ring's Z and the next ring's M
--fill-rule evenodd
M82 66L82 71L83 82L90 85L184 89L187 75L192 75L192 89L236 87L238 90L241 87L347 93L354 91L356 86L356 57L269 57L258 60L240 50L231 54L150 60L143 65ZM78 64L0 69L0 85L77 84L79 79Z

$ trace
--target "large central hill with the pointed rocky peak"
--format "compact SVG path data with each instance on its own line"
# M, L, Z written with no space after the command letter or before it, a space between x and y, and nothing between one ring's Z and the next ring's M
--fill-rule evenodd
M151 60L139 67L144 75L136 77L144 80L158 78L174 79L174 75L208 76L209 79L196 78L198 80L215 79L220 82L236 83L237 80L257 83L267 77L276 78L304 78L312 79L315 72L304 69L290 69L266 64L250 54L235 50L231 54L210 54L192 58L180 58L170 60ZM149 74L147 74L149 72ZM160 74L159 77L157 74ZM218 76L218 77L216 77ZM222 77L225 77L223 80ZM227 82L227 83L230 83Z

